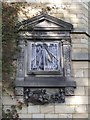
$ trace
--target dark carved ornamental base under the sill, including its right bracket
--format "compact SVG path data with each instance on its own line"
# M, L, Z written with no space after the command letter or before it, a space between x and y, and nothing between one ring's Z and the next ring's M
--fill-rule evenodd
M48 93L47 88L32 88L24 89L24 101L26 103L31 102L33 104L48 104L48 103L64 103L65 96L74 95L73 87L58 88L55 93Z

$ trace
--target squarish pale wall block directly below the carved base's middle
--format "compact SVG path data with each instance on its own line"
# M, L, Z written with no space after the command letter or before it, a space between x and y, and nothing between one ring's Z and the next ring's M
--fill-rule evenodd
M54 113L54 105L41 106L41 113Z

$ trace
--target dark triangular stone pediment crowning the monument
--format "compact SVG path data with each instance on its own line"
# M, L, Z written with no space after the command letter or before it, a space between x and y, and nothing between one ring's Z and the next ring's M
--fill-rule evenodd
M60 30L71 31L73 28L72 24L47 14L41 14L31 19L22 21L17 26L18 26L18 30L30 30L35 28L36 29L57 28Z

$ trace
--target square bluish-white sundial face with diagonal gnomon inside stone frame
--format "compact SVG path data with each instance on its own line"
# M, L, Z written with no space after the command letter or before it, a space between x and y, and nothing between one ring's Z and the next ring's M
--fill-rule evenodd
M31 58L29 69L32 71L59 71L59 42L30 42Z

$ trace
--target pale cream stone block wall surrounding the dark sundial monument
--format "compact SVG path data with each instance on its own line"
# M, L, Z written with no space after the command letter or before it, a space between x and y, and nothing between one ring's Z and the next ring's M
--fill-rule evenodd
M46 5L46 4L45 4ZM49 104L49 105L23 105L22 110L18 110L21 118L88 118L88 82L90 79L88 43L90 43L88 30L88 3L63 3L60 9L48 11L48 14L70 22L74 26L74 31L71 33L72 41L72 76L77 83L75 96L66 97L65 103ZM36 6L36 8L35 8ZM28 5L32 11L29 11L30 17L35 13L39 14L44 4ZM36 11L37 9L37 11ZM34 13L34 14L33 14ZM29 16L28 15L28 16ZM20 21L26 19L22 14L19 16ZM4 109L10 108L11 105L17 104L16 99L11 99L5 93L3 95Z

